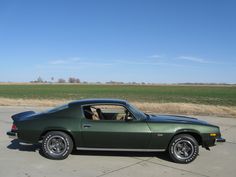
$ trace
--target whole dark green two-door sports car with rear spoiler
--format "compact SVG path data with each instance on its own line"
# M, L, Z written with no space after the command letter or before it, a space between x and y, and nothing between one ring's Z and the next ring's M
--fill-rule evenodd
M174 162L189 163L200 145L209 149L225 142L218 126L184 116L145 114L117 99L79 100L12 119L7 135L31 144L42 142L42 152L50 159L65 159L73 149L167 151Z

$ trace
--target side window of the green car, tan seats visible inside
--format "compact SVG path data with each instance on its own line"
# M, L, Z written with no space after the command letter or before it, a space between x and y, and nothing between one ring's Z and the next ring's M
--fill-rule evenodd
M83 107L84 115L90 120L124 121L133 119L132 114L120 105L89 105Z

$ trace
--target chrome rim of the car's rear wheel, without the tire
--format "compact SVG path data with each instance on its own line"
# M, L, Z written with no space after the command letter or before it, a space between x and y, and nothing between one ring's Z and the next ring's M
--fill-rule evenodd
M47 149L54 155L64 154L67 149L65 138L58 135L50 137L47 142Z

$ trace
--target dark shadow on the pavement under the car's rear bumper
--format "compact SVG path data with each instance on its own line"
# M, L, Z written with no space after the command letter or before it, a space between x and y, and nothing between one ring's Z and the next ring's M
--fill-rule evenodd
M40 151L40 144L25 144L19 141L18 139L15 139L11 141L11 144L9 144L7 148L19 151L36 152Z

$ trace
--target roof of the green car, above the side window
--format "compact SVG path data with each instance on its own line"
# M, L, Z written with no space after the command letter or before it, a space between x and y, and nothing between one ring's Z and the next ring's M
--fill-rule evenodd
M69 105L85 105L85 104L123 104L126 105L126 100L121 99L108 99L108 98L93 98L93 99L82 99L69 103Z

